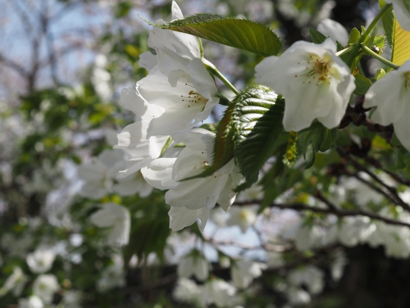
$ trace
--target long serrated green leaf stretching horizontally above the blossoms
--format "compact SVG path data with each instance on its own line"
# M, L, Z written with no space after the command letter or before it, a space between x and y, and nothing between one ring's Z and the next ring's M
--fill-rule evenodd
M192 34L262 56L277 55L282 49L282 42L275 32L264 25L241 18L199 13L166 25L158 25L142 19L155 27Z

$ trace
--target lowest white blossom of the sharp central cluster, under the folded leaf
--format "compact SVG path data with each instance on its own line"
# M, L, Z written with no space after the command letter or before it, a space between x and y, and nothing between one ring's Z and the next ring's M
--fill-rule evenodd
M194 128L173 134L175 142L183 142L186 147L175 158L160 158L141 169L148 183L159 189L169 189L165 201L171 205L170 227L180 230L194 223L198 218L203 230L210 210L216 202L227 211L235 200L233 188L240 182L240 175L231 161L212 176L206 178L182 179L200 174L212 162L213 139L215 134Z

